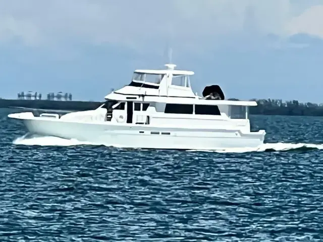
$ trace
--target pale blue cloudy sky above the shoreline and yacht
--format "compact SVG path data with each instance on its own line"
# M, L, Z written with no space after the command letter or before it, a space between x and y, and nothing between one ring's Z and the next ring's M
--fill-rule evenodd
M323 0L0 0L0 97L102 101L170 48L199 94L323 103Z

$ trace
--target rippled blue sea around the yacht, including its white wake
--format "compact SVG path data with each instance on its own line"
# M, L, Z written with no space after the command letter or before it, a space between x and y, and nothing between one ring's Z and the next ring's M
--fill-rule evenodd
M322 241L323 118L253 116L257 151L24 138L0 110L0 241Z

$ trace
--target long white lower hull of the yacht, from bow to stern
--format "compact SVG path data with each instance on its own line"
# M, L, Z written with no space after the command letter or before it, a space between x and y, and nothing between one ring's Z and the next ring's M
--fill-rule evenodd
M18 118L17 116L10 116ZM265 132L239 130L166 128L148 125L80 123L53 118L22 118L31 134L77 139L96 145L121 148L226 150L255 148L263 144Z

